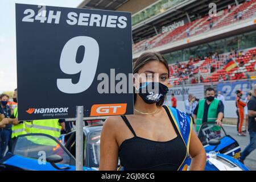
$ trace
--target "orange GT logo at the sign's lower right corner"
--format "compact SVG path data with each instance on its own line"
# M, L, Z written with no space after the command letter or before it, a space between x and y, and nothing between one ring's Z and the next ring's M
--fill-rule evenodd
M127 104L95 104L90 110L90 116L123 115Z

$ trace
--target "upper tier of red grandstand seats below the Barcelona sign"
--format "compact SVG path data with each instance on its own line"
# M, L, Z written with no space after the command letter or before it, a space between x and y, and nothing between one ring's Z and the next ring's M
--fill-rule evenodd
M242 19L235 20L234 14L237 11L243 12ZM256 19L256 0L251 0L250 2L243 2L240 5L233 5L232 10L228 13L228 9L221 10L217 13L217 16L213 16L213 27L212 31L217 28L229 26L231 23L239 23L241 20L246 20L253 18ZM173 31L164 32L158 35L153 36L149 39L144 39L138 43L135 43L133 46L133 52L138 53L144 51L145 49L149 50L155 47L164 46L164 44L174 43L177 40L186 39L187 34L185 30L189 28L189 37L203 34L210 30L209 28L209 15L204 16L203 18L193 20L190 23L186 23L184 26L178 27ZM255 22L254 22L255 23ZM255 25L254 25L255 27ZM147 48L145 46L147 45Z

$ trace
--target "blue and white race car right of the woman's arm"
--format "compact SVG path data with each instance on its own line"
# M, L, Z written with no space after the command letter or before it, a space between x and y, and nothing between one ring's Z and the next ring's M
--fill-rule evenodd
M207 152L206 171L249 171L238 160L241 147L223 127L218 127L215 122L203 123L197 137Z

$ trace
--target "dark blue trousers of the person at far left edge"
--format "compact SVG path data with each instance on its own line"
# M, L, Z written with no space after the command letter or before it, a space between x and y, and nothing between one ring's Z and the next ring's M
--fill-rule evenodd
M11 140L11 130L2 129L0 130L0 159L3 158L3 155L6 151L6 148L8 146L8 151L11 151L12 147L12 140Z

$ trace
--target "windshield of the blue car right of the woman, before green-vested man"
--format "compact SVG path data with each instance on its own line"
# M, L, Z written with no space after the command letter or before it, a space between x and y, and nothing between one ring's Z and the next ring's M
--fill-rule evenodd
M203 146L209 143L211 139L221 139L225 136L222 128L217 126L216 123L204 123L199 130L198 138Z

